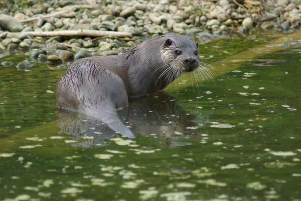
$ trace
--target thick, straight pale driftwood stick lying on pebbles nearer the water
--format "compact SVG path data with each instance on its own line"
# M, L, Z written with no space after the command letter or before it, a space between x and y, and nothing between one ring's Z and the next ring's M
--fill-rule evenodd
M98 31L98 30L64 30L64 31L49 31L49 32L24 32L23 36L32 35L32 36L41 36L41 37L53 37L53 36L62 36L62 37L74 37L74 36L86 36L86 37L132 37L131 33L128 32L115 32L115 31Z

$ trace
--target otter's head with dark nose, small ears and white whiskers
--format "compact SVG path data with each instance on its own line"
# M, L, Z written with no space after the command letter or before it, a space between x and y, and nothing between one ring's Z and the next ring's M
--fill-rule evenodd
M160 53L165 65L170 64L179 74L191 72L200 64L198 43L187 36L167 34Z

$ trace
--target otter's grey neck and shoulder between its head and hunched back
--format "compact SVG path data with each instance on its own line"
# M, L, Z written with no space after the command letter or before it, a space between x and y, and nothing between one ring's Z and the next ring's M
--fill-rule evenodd
M170 67L170 65L165 65L160 53L165 40L164 37L153 38L123 54L124 61L129 66L127 73L130 97L156 93L176 78L173 76L168 80L169 73L164 73Z

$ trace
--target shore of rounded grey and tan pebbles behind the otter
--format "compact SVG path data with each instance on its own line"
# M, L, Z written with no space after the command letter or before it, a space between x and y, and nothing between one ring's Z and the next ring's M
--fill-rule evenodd
M57 63L124 53L147 38L170 32L206 41L247 35L253 29L301 29L300 0L28 0L24 5L0 3L0 8L0 52L28 50L33 59ZM88 34L70 35L67 30ZM26 62L17 66L28 67Z

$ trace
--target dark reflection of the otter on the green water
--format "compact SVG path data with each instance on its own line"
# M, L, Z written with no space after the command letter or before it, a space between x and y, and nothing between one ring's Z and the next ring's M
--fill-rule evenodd
M195 107L194 107L195 108ZM141 135L156 134L159 138L173 138L175 131L185 133L186 127L197 126L206 121L207 115L187 114L172 96L160 91L158 96L147 96L133 100L127 108L118 110L118 117L134 133ZM200 119L201 118L201 119ZM202 120L203 119L203 120ZM97 118L76 111L59 109L57 123L61 132L75 137L92 136L80 146L93 146L117 135ZM130 124L129 124L130 123Z

